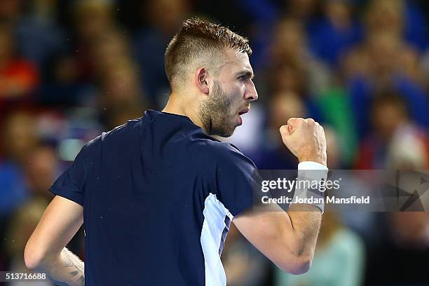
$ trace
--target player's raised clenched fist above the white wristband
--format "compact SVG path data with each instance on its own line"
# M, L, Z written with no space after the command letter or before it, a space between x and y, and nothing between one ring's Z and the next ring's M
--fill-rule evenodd
M325 131L312 118L290 118L280 127L283 143L299 162L313 161L326 166Z

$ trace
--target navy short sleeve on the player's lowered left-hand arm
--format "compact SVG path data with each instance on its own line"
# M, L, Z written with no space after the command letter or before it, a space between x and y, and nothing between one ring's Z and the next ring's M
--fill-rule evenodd
M83 206L83 186L88 175L89 151L88 142L74 159L67 170L50 186L49 191Z

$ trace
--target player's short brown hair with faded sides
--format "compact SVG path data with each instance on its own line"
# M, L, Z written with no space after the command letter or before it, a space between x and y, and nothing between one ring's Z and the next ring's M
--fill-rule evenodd
M213 68L216 74L217 64L226 48L252 54L249 41L230 29L199 18L185 20L165 50L165 74L171 89L178 90L183 86L191 68Z

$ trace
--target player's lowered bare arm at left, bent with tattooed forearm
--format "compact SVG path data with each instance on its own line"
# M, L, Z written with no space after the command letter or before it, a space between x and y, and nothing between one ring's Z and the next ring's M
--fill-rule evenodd
M83 207L55 196L25 247L27 268L46 273L56 285L85 285L83 262L65 246L83 224Z

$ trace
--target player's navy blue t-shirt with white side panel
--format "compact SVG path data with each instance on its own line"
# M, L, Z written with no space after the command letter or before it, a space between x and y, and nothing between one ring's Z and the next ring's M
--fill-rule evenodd
M226 285L254 163L186 116L146 111L88 142L51 186L83 205L86 285Z

